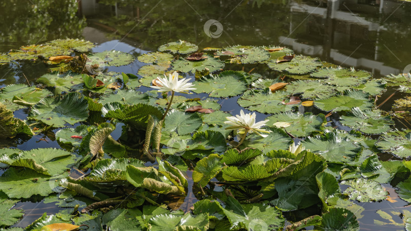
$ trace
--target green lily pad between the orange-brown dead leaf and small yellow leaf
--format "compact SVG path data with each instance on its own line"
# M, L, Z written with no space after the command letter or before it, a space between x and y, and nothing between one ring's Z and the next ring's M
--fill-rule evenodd
M286 87L290 94L302 93L305 99L325 99L335 95L335 88L319 81L297 80Z

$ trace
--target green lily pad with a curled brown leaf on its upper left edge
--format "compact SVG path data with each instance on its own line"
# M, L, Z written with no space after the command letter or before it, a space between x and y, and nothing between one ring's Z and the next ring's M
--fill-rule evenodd
M268 67L277 71L288 71L292 74L306 74L315 71L319 66L322 66L316 58L298 55L290 62L276 63L275 61L268 62Z

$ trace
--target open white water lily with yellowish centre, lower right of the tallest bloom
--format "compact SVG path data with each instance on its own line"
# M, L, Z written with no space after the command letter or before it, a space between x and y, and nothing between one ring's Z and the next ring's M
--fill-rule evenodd
M226 117L228 121L225 121L225 124L231 125L230 127L226 129L230 130L237 130L238 134L245 134L246 130L248 132L253 133L255 132L257 135L262 136L262 137L267 137L268 135L260 134L260 132L263 133L270 133L271 131L267 131L265 129L261 129L262 126L265 125L265 123L268 122L268 120L265 121L260 121L258 123L255 123L255 112L254 113L248 113L245 114L243 110L241 110L240 114L236 115L236 117Z

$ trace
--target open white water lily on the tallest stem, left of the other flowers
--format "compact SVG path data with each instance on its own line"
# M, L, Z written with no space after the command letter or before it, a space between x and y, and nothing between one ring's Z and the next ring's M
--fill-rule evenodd
M164 78L157 77L156 82L158 82L161 87L158 86L151 86L152 88L158 89L159 92L169 92L169 91L174 91L174 92L181 92L181 93L187 93L189 90L195 90L195 88L191 88L194 86L194 84L188 83L186 78L183 78L179 80L179 74L177 71L174 71L173 74L168 74L168 80L167 76L164 74Z

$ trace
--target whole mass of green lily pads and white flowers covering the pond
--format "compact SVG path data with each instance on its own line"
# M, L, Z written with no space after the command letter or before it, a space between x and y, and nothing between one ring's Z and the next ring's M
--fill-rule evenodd
M51 133L61 147L0 149L0 228L23 230L10 228L19 201L61 208L24 230L359 230L359 203L393 200L383 184L411 202L411 131L375 105L388 86L410 93L408 73L373 79L283 47L199 52L177 41L138 56L149 64L135 75L105 71L133 55L94 46L55 40L0 54L3 65L52 70L36 86L1 89L0 137ZM243 64L280 77L225 68ZM181 94L192 92L201 98ZM230 97L251 112L220 110ZM376 224L411 229L409 212L403 223L377 213L387 221Z

